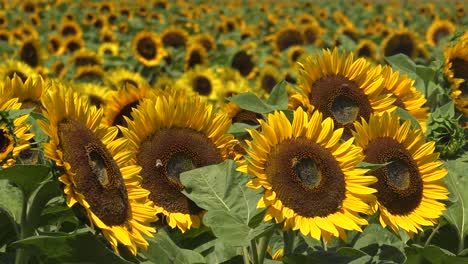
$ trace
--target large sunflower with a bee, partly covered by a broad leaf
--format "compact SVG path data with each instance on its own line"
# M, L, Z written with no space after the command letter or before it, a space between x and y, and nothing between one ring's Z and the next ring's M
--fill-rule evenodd
M226 159L226 149L235 142L227 134L231 122L215 114L211 104L180 92L144 100L132 118L122 133L143 168L142 186L151 191L157 212L182 232L198 227L203 210L181 193L179 176Z

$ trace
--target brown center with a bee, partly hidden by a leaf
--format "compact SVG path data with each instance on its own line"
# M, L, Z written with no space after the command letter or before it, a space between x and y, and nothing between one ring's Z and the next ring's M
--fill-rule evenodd
M202 209L181 193L180 173L222 160L204 133L189 128L157 131L141 143L137 153L142 186L151 191L149 198L169 212L184 214L198 214Z

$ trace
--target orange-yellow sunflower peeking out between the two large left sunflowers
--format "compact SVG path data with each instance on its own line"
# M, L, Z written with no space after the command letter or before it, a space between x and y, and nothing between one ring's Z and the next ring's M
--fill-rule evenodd
M130 117L143 99L154 97L156 93L148 86L136 87L126 82L125 87L112 93L104 107L104 126L125 126L125 117Z

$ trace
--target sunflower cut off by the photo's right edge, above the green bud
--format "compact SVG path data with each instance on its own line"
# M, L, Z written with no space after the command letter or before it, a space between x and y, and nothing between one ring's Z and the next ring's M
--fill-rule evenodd
M457 107L468 115L468 33L444 50L445 76L452 84L451 96Z

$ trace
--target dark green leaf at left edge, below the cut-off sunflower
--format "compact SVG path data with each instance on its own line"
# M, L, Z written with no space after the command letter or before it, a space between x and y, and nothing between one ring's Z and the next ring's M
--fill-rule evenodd
M7 179L18 186L29 199L32 192L49 176L49 167L44 165L15 165L0 170L0 179Z

